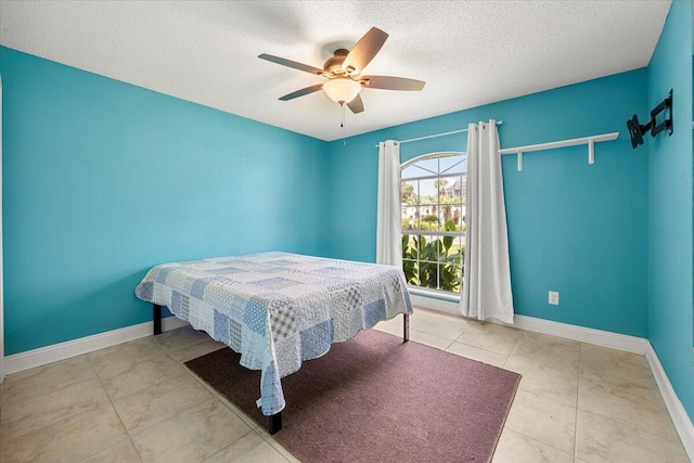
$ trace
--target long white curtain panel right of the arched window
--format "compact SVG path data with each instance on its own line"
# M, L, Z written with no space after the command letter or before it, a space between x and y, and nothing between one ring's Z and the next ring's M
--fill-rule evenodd
M460 312L513 323L509 235L497 121L467 131L465 282Z

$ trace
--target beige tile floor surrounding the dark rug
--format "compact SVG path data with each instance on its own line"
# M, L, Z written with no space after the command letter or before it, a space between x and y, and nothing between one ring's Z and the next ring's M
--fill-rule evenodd
M642 356L423 309L411 338L523 374L497 463L689 461ZM183 366L221 347L183 327L8 376L0 462L297 461Z

